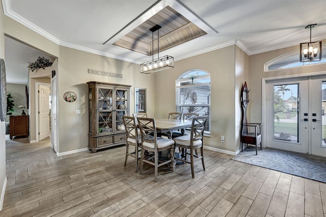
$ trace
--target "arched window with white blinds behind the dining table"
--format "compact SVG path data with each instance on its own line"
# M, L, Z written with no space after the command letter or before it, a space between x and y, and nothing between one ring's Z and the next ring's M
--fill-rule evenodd
M176 79L176 111L208 116L205 135L210 134L210 74L200 69L182 73Z

